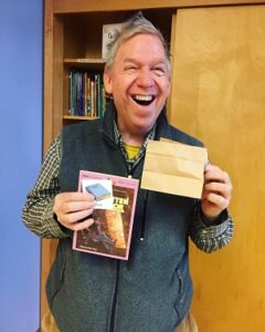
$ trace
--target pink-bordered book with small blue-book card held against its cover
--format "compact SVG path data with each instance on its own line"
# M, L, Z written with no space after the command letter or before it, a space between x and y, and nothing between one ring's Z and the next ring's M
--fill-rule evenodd
M78 191L94 195L94 224L74 231L73 249L128 260L139 180L80 172Z

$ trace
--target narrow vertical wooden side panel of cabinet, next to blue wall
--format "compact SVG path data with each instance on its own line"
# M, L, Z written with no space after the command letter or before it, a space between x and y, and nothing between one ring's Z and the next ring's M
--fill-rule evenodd
M45 1L44 28L44 139L43 155L63 123L62 105L62 24L53 15L53 2ZM56 112L54 112L56 110ZM45 294L45 283L56 250L56 240L41 241L41 320L50 314ZM43 330L43 329L42 329ZM44 331L44 330L43 330ZM52 330L50 330L52 332Z

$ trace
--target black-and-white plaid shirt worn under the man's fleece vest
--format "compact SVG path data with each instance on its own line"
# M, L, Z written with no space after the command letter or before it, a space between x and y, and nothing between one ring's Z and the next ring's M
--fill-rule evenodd
M139 160L145 156L146 146L149 139L155 137L153 127L142 143L138 155L128 159L121 135L116 123L114 124L114 137L116 144L121 149L124 159L129 173ZM26 203L22 211L22 218L28 228L34 234L43 238L66 238L60 224L54 219L53 204L54 197L60 190L59 186L59 168L61 163L61 135L59 135L47 152L41 168L40 176L35 186L28 195ZM227 245L233 234L233 221L231 217L224 212L218 222L209 224L202 220L200 212L200 200L198 200L194 214L190 222L190 237L198 248L205 252L212 252Z

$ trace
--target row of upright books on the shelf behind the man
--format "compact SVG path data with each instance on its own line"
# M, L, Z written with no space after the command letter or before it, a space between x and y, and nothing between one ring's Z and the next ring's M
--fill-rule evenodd
M103 73L70 71L68 114L102 117L106 110Z

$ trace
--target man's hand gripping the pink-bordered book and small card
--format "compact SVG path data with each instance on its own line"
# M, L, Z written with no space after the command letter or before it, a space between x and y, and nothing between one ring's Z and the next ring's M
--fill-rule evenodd
M94 196L86 193L62 193L55 196L53 211L65 228L81 230L94 220L89 216L95 207ZM82 221L80 221L82 220Z

